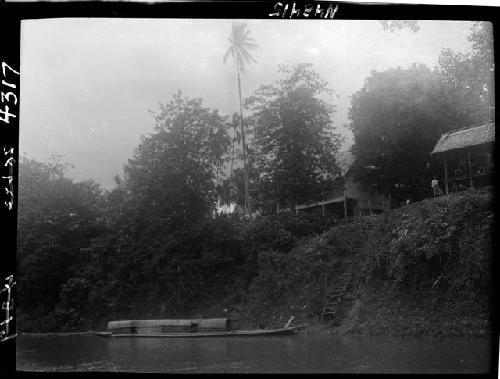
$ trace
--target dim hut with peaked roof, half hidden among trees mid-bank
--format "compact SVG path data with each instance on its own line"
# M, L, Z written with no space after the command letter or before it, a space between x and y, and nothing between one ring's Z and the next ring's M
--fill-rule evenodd
M324 194L325 200L295 206L295 213L321 209L323 215L338 218L382 213L389 209L390 200L379 193L372 193L354 179L351 167L354 157L350 151L344 151L337 157L341 175L334 180L332 189ZM290 209L279 209L290 211Z

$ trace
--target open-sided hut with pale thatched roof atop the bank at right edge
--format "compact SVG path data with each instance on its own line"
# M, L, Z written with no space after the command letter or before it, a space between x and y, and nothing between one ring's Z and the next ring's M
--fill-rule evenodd
M492 184L494 145L494 122L442 134L431 155L442 159L445 192Z

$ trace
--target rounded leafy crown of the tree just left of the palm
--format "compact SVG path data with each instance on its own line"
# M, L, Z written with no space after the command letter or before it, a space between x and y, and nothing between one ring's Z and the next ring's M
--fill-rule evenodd
M210 212L216 202L216 174L229 138L224 118L177 92L154 114L155 132L143 137L125 167L125 183L148 219L182 227ZM156 222L156 221L155 221Z

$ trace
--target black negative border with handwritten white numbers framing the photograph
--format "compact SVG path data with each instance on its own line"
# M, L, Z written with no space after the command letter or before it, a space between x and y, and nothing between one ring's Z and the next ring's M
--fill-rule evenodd
M277 6L277 4L282 4ZM26 19L43 18L68 18L68 17L97 17L97 18L213 18L213 19L270 19L280 18L283 22L290 19L293 4L304 9L306 5L313 4L314 7L321 6L327 12L330 6L335 10L333 17L327 17L323 22L335 22L336 19L349 20L471 20L490 21L494 27L494 37L497 37L498 19L500 19L498 8L489 6L453 6L453 5L416 5L416 4L375 4L375 3L349 3L332 1L183 1L183 2L104 2L104 1L63 1L63 2L2 2L0 4L0 60L6 66L5 81L2 90L13 93L8 100L9 109L0 104L0 110L7 112L10 122L0 122L0 151L2 151L2 201L0 204L0 222L2 225L1 265L0 282L4 278L14 275L16 272L16 234L17 234L17 200L18 200L18 159L19 159L19 107L22 99L19 96L20 76L15 74L20 68L20 38L21 21ZM278 12L277 9L285 9L289 6L288 13ZM338 6L338 7L337 7ZM270 15L274 14L274 15ZM318 20L318 17L306 17L304 15L293 15L293 18L301 18L303 22ZM324 17L323 17L324 18ZM494 39L495 51L498 51L498 38ZM2 72L2 74L4 74ZM21 73L22 75L22 73ZM496 83L496 80L495 80ZM13 87L13 86L14 87ZM14 101L16 98L17 101ZM12 116L8 116L8 114ZM0 118L4 117L0 113ZM11 150L13 149L13 150ZM11 155L8 155L12 153ZM10 164L7 163L9 158ZM12 165L12 162L14 163ZM12 171L9 168L12 167ZM13 174L9 182L5 176ZM11 186L10 186L11 185ZM9 188L9 190L7 190ZM13 195L12 208L6 203L7 196ZM496 208L496 200L495 200ZM495 241L496 245L496 241ZM495 251L495 249L493 250ZM492 272L496 271L498 258L493 255ZM493 275L492 288L497 284L496 276ZM2 284L3 285L3 284ZM15 294L15 292L14 292ZM15 296L14 296L15 297ZM493 299L493 320L498 316L498 302ZM15 311L14 311L15 314ZM11 330L15 331L15 320L11 323ZM491 344L492 361L491 373L498 370L498 328L493 323L493 341ZM0 354L4 366L2 371L15 372L15 339L0 343ZM19 373L18 373L19 374Z

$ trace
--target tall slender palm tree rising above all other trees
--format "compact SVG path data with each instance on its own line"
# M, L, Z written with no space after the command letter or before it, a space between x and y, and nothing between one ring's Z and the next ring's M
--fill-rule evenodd
M246 146L245 146L245 128L243 127L243 103L241 101L241 80L240 72L245 72L245 64L256 62L254 57L250 55L248 50L255 49L257 45L253 38L248 35L249 30L246 29L247 24L244 22L233 23L231 30L231 36L228 38L229 49L226 54L224 54L223 62L226 63L229 56L233 57L233 61L236 68L236 74L238 77L238 95L240 100L240 129L241 129L241 147L243 155L243 173L245 181L245 213L249 214L250 199L248 192L248 168L247 168L247 157L246 157Z

